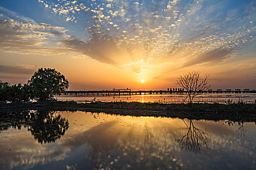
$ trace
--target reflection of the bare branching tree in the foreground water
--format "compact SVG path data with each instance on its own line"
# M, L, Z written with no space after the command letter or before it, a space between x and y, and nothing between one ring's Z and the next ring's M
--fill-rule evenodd
M185 121L184 123L186 124ZM184 148L186 151L199 153L202 146L207 146L207 136L201 129L197 129L194 126L192 120L190 120L189 126L187 124L186 126L188 129L187 134L179 138L177 142L179 143L180 147Z

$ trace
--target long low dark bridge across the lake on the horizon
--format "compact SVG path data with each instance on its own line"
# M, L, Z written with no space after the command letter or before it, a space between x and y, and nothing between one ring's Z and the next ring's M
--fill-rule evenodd
M167 90L138 90L132 91L131 89L113 89L113 90L88 90L88 91L65 91L62 92L61 95L75 95L75 96L131 96L131 95L159 95L159 94L186 94L182 88L174 88L174 89L167 89ZM256 93L256 89L217 89L212 90L209 89L207 91L196 91L196 93Z

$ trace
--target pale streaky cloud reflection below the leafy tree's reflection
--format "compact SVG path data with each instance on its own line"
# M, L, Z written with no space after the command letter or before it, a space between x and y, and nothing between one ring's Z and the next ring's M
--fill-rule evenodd
M17 134L18 135L18 134ZM14 169L20 166L33 167L37 164L46 164L53 160L63 160L66 157L67 150L63 150L60 146L38 146L35 143L30 133L21 133L18 141L5 141L3 145L0 144L0 169ZM29 135L29 136L28 136ZM9 151L10 149L10 151ZM31 166L29 166L31 165Z

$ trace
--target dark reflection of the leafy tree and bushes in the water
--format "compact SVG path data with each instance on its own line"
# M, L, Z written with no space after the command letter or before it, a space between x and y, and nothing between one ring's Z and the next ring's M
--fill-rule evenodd
M27 127L39 143L55 142L69 128L68 120L49 111L0 113L0 131Z

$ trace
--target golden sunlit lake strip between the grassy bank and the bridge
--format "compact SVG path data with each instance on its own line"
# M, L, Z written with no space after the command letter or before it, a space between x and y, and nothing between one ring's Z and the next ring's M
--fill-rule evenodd
M180 103L183 102L186 95L184 94L168 94L168 95L132 95L132 96L56 96L58 101L76 101L76 102L163 102L163 103ZM256 93L215 93L201 94L194 99L194 102L208 103L225 103L238 101L252 103L256 101Z

